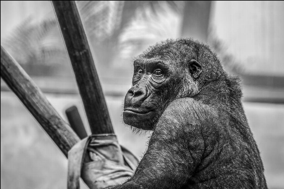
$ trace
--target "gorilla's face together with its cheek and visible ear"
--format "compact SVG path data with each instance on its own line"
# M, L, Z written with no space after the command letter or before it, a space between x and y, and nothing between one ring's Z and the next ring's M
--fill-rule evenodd
M180 98L181 91L192 88L185 86L190 85L185 78L197 79L201 73L196 60L177 63L169 56L140 56L133 67L132 87L125 96L123 120L143 130L153 130L168 104Z

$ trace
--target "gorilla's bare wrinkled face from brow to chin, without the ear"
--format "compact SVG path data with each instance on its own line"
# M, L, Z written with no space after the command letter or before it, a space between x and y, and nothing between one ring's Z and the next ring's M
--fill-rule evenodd
M133 86L125 96L123 120L126 124L151 130L163 111L165 87L174 73L161 59L136 59Z

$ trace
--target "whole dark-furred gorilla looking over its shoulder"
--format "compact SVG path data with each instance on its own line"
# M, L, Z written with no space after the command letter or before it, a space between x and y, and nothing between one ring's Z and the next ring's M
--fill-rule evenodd
M209 46L168 39L133 64L123 120L153 133L134 175L113 188L267 188L239 79Z

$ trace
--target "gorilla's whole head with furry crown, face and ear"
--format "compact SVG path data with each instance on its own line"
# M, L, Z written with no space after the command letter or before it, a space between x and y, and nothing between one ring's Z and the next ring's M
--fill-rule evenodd
M135 58L133 67L123 120L143 130L154 129L170 102L196 95L223 72L209 47L191 39L166 40L150 46Z

